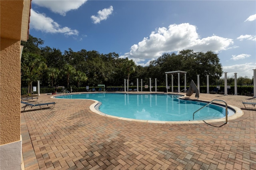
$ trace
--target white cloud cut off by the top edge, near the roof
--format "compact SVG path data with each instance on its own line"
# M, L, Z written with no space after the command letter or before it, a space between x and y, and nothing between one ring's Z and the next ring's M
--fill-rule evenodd
M87 0L32 0L32 3L65 16L66 12L78 9L86 1Z

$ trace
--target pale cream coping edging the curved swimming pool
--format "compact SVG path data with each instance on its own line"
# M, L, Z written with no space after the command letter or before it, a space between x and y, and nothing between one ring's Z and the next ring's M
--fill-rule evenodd
M113 93L113 92L101 92L101 93ZM119 93L125 93L125 92L119 92ZM87 94L87 93L73 93L73 94ZM128 93L128 94L138 94L138 93ZM166 93L139 93L139 94L166 94ZM175 93L167 93L167 94L181 95L182 97L179 97L179 99L183 99L183 100L200 101L200 102L205 102L205 103L210 102L210 101L200 100L200 99L190 99L190 98L185 99L184 97L187 97L187 96L182 95L182 94L175 94ZM61 95L63 95L63 94L61 94ZM70 93L65 94L65 95L70 95ZM55 95L55 96L52 96L51 98L55 98L56 96L60 96L60 95ZM55 98L55 99L58 99L58 98ZM73 99L73 100L76 100L76 99ZM200 123L205 123L205 121L207 121L207 123L217 123L217 122L226 123L226 117L223 117L223 118L220 118L220 119L209 119L209 120L205 120L205 121L204 120L201 120L201 121L150 121L150 120L139 120L139 119L124 118L124 117L116 117L116 116L108 115L106 113L102 113L101 111L99 111L98 107L101 104L100 101L96 101L96 100L93 100L93 99L82 99L82 100L94 101L94 103L92 105L90 105L90 110L93 113L96 113L98 115L102 115L102 116L105 116L105 117L110 117L110 118L113 118L113 119L123 120L123 121L132 121L132 122L140 122L140 123L157 123L157 124L200 124ZM214 102L214 104L225 107L225 105L223 105L222 103L219 103L219 102ZM228 116L228 121L238 119L238 118L240 118L244 115L244 112L238 107L228 105L228 108L235 111L234 115Z

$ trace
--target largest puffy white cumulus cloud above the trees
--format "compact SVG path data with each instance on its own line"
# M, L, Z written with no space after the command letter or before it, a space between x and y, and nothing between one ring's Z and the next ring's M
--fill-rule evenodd
M222 51L230 48L232 39L211 36L200 39L196 26L188 23L172 24L168 28L158 28L149 38L132 45L130 52L121 57L129 59L158 58L165 52L193 49L194 51Z

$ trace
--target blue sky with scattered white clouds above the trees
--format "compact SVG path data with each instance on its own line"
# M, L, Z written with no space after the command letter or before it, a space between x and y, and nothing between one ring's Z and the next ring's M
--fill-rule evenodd
M30 34L62 53L115 52L142 66L193 49L218 53L228 77L256 69L255 0L32 0Z

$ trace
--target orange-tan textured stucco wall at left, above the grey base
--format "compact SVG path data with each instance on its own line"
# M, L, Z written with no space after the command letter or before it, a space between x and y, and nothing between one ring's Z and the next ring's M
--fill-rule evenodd
M20 140L20 41L1 38L0 145Z

